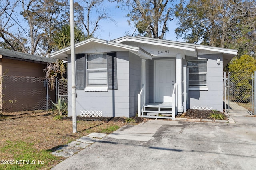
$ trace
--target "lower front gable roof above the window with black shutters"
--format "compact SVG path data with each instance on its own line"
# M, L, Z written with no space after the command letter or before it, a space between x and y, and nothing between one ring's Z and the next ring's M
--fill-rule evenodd
M94 45L94 46L95 45L107 45L110 47L117 47L118 49L130 51L142 58L152 59L152 55L140 47L134 47L131 45L126 45L126 44L122 44L122 43L116 43L116 42L106 41L106 40L96 39L96 38L90 38L90 39L86 39L80 43L76 43L75 49L83 48L85 45ZM106 51L106 52L109 52L109 51ZM67 60L67 57L70 54L71 54L71 46L61 49L61 50L58 50L54 53L51 53L50 57L55 58L55 59Z

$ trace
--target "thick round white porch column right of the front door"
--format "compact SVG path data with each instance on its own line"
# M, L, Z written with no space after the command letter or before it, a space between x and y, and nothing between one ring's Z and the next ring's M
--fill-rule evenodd
M176 55L176 83L177 83L177 90L178 90L178 101L177 101L177 109L178 113L182 113L182 57L184 58L185 55L177 54Z

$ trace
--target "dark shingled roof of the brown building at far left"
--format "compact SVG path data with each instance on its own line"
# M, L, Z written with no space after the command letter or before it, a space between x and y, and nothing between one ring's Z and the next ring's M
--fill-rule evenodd
M8 49L1 49L1 48L0 48L0 58L27 61L27 62L33 62L33 63L41 63L41 64L52 63L56 61L56 59L40 57L38 55L32 55L32 54L22 53L22 52L8 50Z

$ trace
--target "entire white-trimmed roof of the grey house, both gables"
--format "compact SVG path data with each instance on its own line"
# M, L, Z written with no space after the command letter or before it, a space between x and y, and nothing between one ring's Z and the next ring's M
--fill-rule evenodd
M75 51L76 53L82 53L85 47L88 47L88 48L91 47L95 49L96 46L98 46L99 48L108 46L108 47L120 49L121 51L124 51L124 50L130 51L145 59L152 59L152 57L156 56L154 53L150 51L146 51L144 49L144 45L142 44L169 47L171 49L174 49L174 51L176 51L177 53L183 53L185 56L190 56L190 57L198 57L198 55L204 55L204 54L222 54L223 66L226 66L226 64L228 64L228 62L237 54L237 50L233 50L233 49L211 47L211 46L191 44L191 43L182 43L178 41L170 41L170 40L155 39L155 38L140 37L140 36L138 37L125 36L118 39L114 39L112 41L90 38L75 44ZM97 50L95 49L95 51ZM105 52L110 52L110 51L105 51ZM70 54L71 54L71 47L69 46L64 49L58 50L54 53L51 53L50 57L55 59L67 60L67 57ZM172 57L175 57L175 56L176 55Z

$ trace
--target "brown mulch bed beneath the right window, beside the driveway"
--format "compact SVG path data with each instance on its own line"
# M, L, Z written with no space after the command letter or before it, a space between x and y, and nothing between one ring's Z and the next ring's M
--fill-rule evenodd
M189 119L212 119L212 118L209 118L211 113L213 113L212 110L188 109L186 113L183 113L181 115L177 115L176 117L185 117L185 118L189 118ZM222 113L222 112L216 111L216 113ZM224 116L225 116L224 120L228 120L226 115L224 115Z

